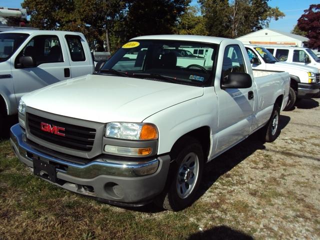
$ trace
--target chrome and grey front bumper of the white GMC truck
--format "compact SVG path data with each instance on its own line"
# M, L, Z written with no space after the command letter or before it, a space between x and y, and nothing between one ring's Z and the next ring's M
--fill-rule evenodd
M62 183L54 184L109 201L140 202L159 194L170 164L169 155L132 161L101 157L86 164L65 161L26 143L19 124L11 127L10 141L19 160L29 167L33 168L33 159L55 165L56 177ZM88 186L93 190L86 190Z

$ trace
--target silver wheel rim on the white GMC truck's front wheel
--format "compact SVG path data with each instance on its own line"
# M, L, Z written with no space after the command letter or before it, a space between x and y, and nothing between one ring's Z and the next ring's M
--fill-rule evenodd
M176 178L176 191L180 198L191 194L199 173L199 159L194 152L186 154L179 166Z

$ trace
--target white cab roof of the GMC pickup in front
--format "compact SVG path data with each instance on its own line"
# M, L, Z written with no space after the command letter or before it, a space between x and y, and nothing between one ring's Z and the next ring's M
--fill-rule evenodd
M200 36L200 35L146 35L138 36L131 38L130 40L182 40L182 41L198 41L198 42L207 42L207 43L216 43L219 44L223 40L232 40L233 42L240 42L239 40L216 37L216 36Z

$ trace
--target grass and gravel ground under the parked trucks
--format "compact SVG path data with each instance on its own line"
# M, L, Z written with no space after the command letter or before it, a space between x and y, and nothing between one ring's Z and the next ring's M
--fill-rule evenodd
M209 162L197 201L179 212L57 188L0 141L0 239L320 239L319 103L281 112L274 142L252 135Z

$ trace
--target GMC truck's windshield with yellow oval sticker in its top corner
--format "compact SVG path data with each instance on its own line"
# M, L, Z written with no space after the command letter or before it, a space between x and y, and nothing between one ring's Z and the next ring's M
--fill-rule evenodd
M179 84L210 84L216 44L177 40L136 40L124 44L99 74L134 76ZM192 54L202 49L204 57Z

